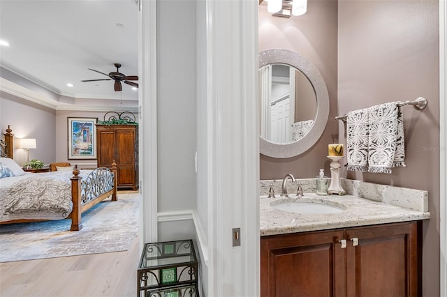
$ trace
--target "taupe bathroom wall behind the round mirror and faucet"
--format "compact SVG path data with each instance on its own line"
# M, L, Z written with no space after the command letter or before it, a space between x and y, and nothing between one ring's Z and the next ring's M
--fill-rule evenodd
M328 144L338 139L337 115L337 1L308 1L300 17L272 17L267 6L259 6L259 51L282 48L298 52L312 61L328 88L328 125L318 142L297 157L277 159L261 154L261 179L279 179L291 173L296 178L329 174Z

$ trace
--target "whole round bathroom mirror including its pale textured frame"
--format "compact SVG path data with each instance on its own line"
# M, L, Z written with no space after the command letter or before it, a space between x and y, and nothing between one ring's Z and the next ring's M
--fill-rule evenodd
M323 77L289 50L259 53L260 152L274 158L304 153L321 137L329 116Z

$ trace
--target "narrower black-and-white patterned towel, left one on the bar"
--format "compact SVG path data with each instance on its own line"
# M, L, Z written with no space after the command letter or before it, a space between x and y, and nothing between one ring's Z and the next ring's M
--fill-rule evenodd
M368 109L348 113L346 119L348 170L366 172L368 163Z

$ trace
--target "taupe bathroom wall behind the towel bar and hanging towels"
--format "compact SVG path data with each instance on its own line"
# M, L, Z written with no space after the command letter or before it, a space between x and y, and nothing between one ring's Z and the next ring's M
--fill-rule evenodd
M392 174L344 172L372 183L428 190L423 224L423 296L439 296L439 24L438 1L339 1L338 109L427 98L402 107L406 167ZM340 141L345 127L339 124ZM444 199L444 198L443 198Z

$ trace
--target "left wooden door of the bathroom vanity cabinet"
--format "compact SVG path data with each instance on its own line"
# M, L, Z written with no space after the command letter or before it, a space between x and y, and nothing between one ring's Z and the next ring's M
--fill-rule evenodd
M346 296L344 231L261 238L261 296Z

